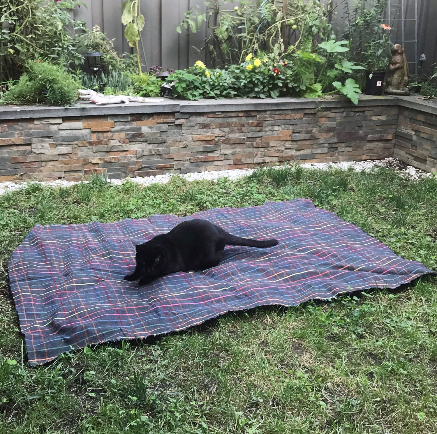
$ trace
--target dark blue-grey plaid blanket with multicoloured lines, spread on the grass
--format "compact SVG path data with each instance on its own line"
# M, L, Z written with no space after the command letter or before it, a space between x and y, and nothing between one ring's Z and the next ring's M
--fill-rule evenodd
M148 286L123 280L135 267L135 244L192 218L280 242L268 249L227 247L218 267L171 274ZM185 329L231 310L395 288L430 272L305 199L184 218L38 225L8 265L31 365L90 344Z

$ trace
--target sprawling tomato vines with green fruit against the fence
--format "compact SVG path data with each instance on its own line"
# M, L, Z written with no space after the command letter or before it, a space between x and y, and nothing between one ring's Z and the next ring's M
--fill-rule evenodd
M192 8L177 27L196 33L206 22L209 35L204 50L222 64L239 64L249 53L267 51L279 57L298 48L311 51L317 40L329 39L332 28L327 21L330 10L318 1L281 2L243 0L232 7L233 0L206 1L207 13Z

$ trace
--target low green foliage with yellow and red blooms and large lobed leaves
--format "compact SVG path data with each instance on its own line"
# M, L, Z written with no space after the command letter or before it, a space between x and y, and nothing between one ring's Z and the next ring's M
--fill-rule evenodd
M246 56L243 63L227 69L208 69L201 61L167 78L174 96L199 98L277 98L279 96L320 97L342 94L354 104L360 89L350 74L362 66L342 58L347 41L329 40L319 44L319 54L298 52L286 59L258 53Z

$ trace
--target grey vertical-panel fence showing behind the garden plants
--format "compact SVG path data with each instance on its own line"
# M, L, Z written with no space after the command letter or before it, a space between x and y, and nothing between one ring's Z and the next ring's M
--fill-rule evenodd
M92 28L99 25L108 38L114 39L115 49L121 52L131 52L121 24L121 3L123 0L83 0L87 7L76 7L74 17L87 22ZM276 1L276 0L272 0ZM329 0L326 0L329 1ZM354 0L349 0L351 3ZM333 14L333 24L337 29L344 25L342 21L342 3L338 3L336 14ZM437 1L436 0L390 0L390 18L398 19L392 33L394 41L405 42L412 72L416 65L423 70L430 70L437 62ZM198 59L205 61L205 54L199 50L204 45L207 34L206 26L197 34L182 34L176 32L176 26L184 18L184 13L191 8L199 7L205 10L204 0L142 0L141 12L146 18L142 31L142 41L146 54L147 66L161 65L164 68L183 69L193 65ZM403 24L399 21L404 10ZM416 17L416 22L414 21ZM425 54L426 60L421 62L420 56ZM144 60L143 60L144 62Z

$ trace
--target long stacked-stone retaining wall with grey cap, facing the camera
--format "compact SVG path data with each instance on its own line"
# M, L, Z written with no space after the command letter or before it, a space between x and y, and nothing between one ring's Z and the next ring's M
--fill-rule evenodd
M0 112L0 181L380 159L393 156L398 117L391 97L367 98L358 106L284 99L8 108Z

